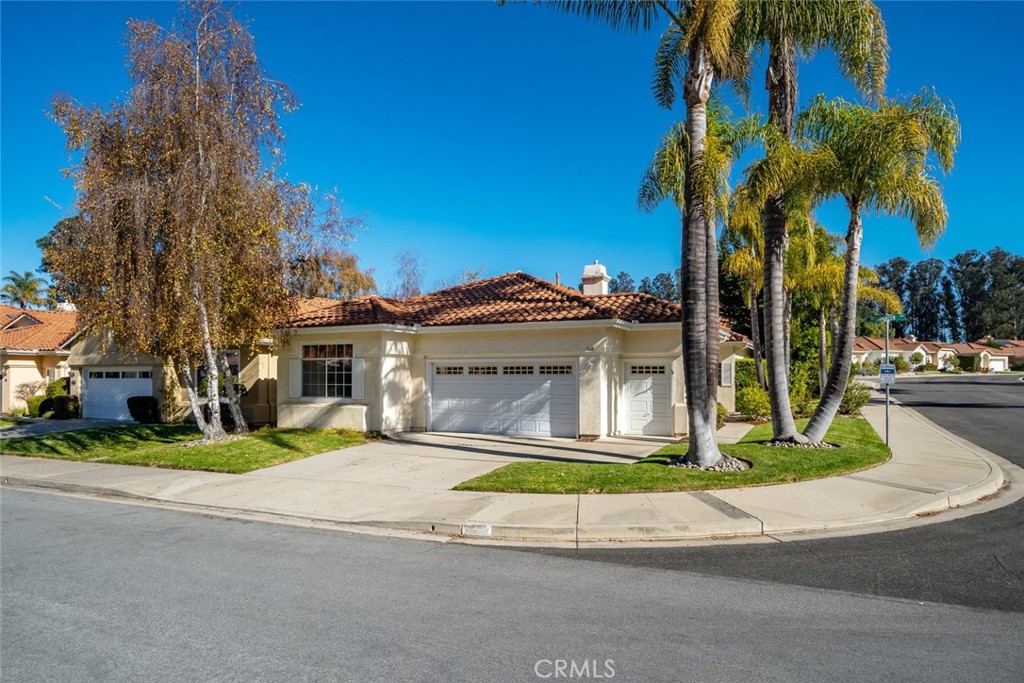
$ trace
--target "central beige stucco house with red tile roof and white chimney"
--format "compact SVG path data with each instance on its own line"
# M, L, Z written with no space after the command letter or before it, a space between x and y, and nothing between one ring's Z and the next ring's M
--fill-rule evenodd
M383 432L532 436L687 431L680 306L584 291L523 272L411 299L371 296L295 315L278 362L278 424ZM735 359L720 330L720 400L734 410Z

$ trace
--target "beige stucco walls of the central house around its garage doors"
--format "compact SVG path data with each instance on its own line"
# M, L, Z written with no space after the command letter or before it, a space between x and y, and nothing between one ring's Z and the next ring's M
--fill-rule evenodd
M291 397L292 361L304 344L352 344L365 367L360 398ZM723 357L745 355L742 344L725 344ZM278 423L283 427L350 427L384 432L429 427L431 364L442 360L552 360L577 369L579 434L601 436L626 430L625 366L630 361L671 364L672 416L676 434L687 431L681 342L678 329L524 327L444 330L293 330L278 362ZM720 398L734 409L734 387Z

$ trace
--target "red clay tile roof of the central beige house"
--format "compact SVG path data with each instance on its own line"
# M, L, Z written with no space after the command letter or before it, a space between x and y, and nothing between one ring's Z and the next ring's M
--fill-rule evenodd
M370 296L331 304L300 310L289 321L289 327L375 324L437 327L612 319L644 324L681 319L679 304L649 294L585 296L524 272L510 272L411 299ZM735 340L743 339L741 335L732 336Z

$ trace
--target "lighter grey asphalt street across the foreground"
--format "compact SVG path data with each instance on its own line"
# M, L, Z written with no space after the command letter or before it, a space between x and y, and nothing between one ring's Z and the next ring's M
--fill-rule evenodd
M1014 612L34 492L0 505L5 683L1016 682L1024 668Z

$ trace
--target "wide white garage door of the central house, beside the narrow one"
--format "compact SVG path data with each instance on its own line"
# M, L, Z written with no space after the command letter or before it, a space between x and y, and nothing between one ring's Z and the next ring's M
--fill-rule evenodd
M577 436L571 364L435 362L432 431Z

